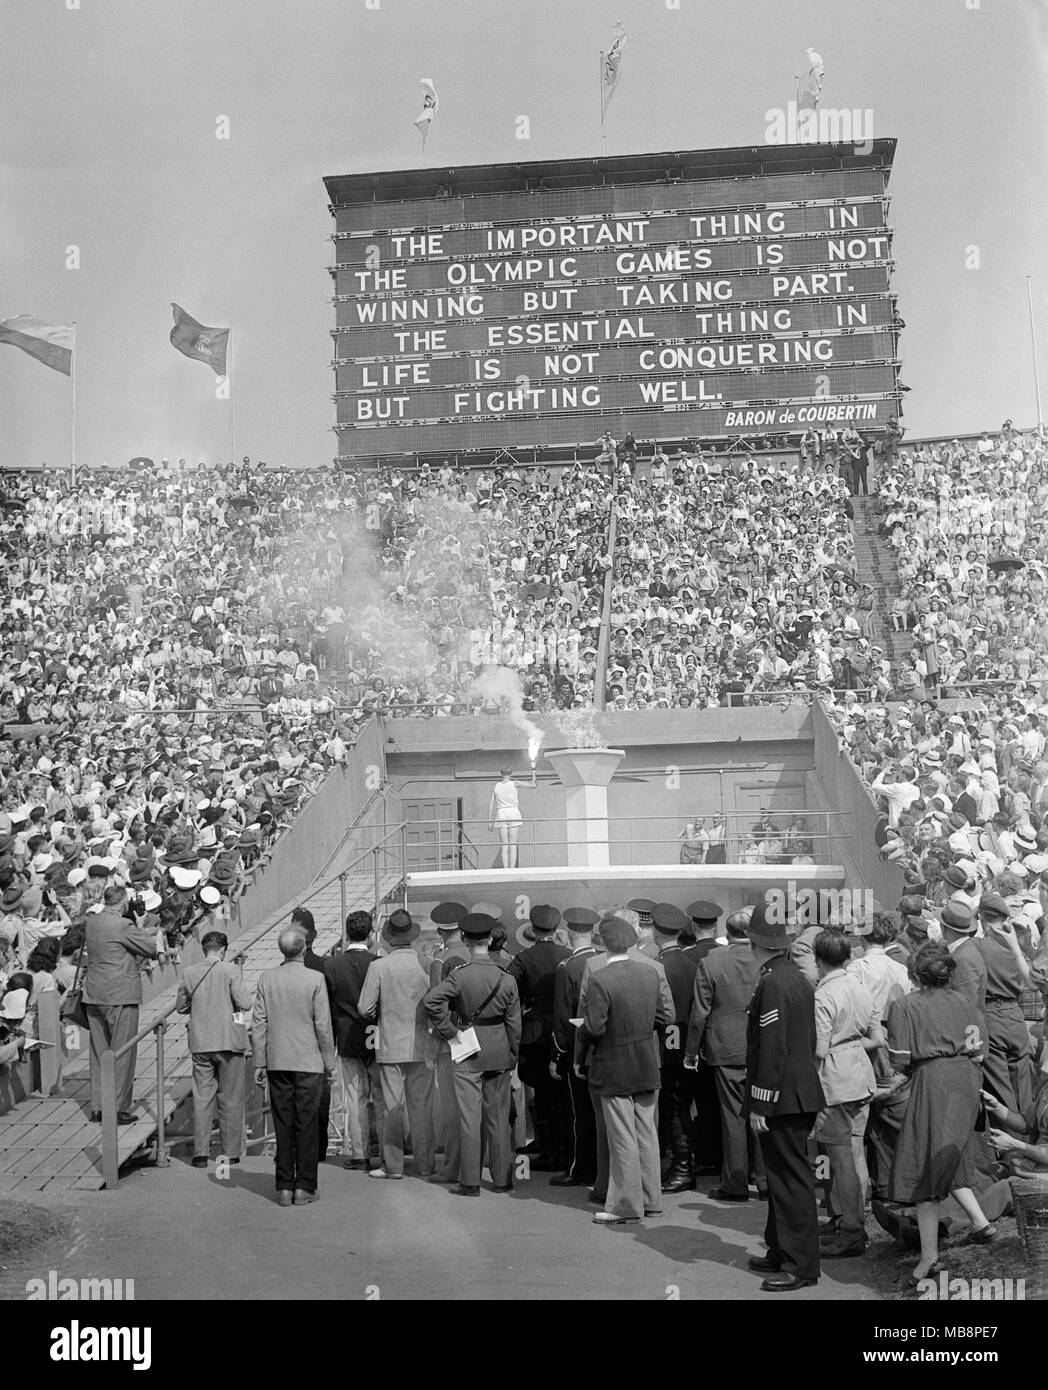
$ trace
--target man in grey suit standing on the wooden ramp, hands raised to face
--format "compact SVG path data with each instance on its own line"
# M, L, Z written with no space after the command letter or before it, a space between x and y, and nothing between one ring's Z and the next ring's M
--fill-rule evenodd
M83 1004L90 1029L90 1118L101 1119L101 1054L117 1052L138 1033L142 963L156 959L157 934L125 916L128 895L106 890L101 912L86 917ZM131 1111L138 1048L117 1059L117 1123L133 1125Z

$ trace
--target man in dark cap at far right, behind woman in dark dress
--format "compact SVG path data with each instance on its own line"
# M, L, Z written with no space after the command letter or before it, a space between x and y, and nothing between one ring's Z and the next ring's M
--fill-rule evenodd
M985 1087L1009 1111L1024 1113L1031 1099L1030 1031L1019 1002L1030 987L1030 963L1019 945L1008 903L984 892L979 920L985 935L974 945L985 962Z

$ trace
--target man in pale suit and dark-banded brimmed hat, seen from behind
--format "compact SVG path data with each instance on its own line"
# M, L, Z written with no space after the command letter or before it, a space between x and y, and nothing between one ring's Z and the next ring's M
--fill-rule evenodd
M398 908L382 931L389 954L371 962L360 991L361 1017L378 1022L375 1061L386 1112L382 1166L372 1168L370 1177L404 1176L404 1118L411 1129L416 1172L428 1177L434 1170L434 1048L423 1008L429 976L414 951L418 935L418 924Z

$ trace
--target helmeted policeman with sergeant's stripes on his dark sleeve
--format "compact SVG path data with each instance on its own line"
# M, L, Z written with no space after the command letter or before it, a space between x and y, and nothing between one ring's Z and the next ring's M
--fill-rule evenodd
M814 1059L814 990L789 960L785 922L753 909L746 935L760 974L746 1017L746 1113L767 1173L766 1255L749 1268L760 1287L787 1293L819 1283L819 1212L808 1136L824 1105Z

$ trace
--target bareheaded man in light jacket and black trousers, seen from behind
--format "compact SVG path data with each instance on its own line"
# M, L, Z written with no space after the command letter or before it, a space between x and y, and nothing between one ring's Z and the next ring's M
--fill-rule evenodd
M335 1076L335 1040L324 976L303 963L306 934L285 927L277 945L284 963L259 979L252 1013L254 1079L270 1083L277 1131L277 1202L316 1202L320 1102L324 1077Z

